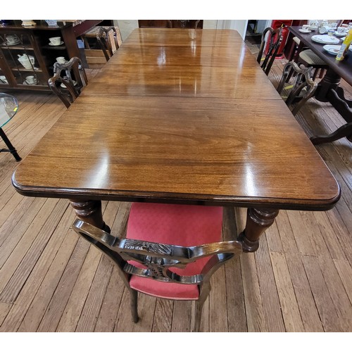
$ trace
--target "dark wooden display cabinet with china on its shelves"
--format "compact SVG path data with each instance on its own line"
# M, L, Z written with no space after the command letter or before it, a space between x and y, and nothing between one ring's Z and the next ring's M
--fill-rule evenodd
M81 21L85 27L89 27L101 20L84 22ZM44 20L35 20L36 25L32 27L23 27L21 23L21 20L12 20L11 25L0 27L0 90L50 90L48 79L54 73L56 58L64 56L70 60L73 56L80 57L76 39L81 34L80 27L74 27L72 22L58 22L57 26L49 27ZM18 37L15 43L8 41L8 37L13 35ZM63 43L51 45L50 37L61 37ZM19 56L23 55L34 57L30 67L18 61ZM36 83L28 84L28 75L34 76Z

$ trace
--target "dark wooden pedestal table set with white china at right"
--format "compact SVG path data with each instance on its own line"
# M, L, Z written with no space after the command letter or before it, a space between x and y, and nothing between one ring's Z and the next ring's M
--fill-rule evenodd
M307 46L329 66L327 73L318 84L315 98L319 101L329 101L346 121L345 125L339 127L339 129L332 132L332 134L327 136L315 136L310 140L313 144L320 144L347 137L348 140L352 142L352 101L344 97L344 91L339 87L341 78L352 85L352 53L348 52L344 61L337 61L336 56L328 54L327 51L323 49L325 44L313 42L311 39L313 35L319 34L319 32L312 31L310 33L302 33L299 32L299 29L301 29L300 26L289 27L290 32L301 40L297 52L301 51L303 46ZM339 40L339 44L341 44L342 40L340 38ZM296 61L296 59L294 61Z

